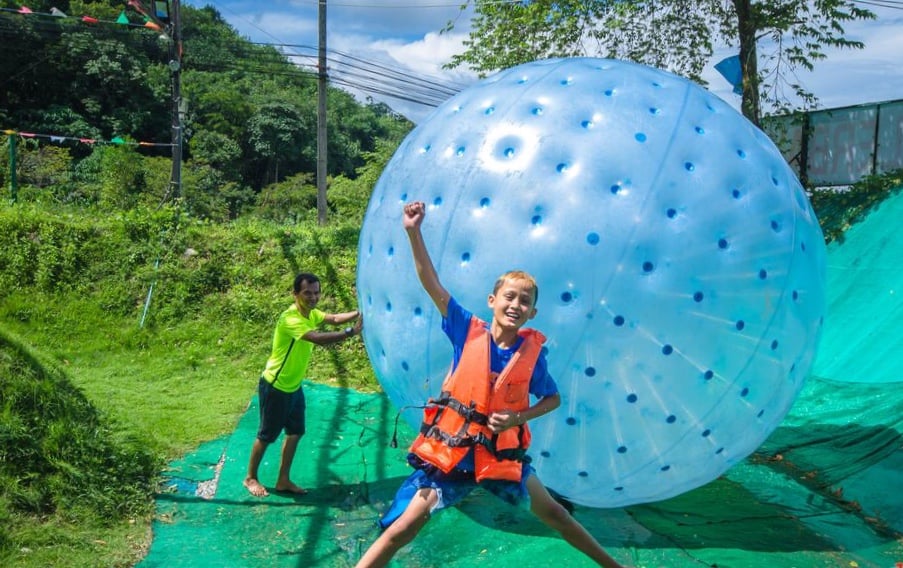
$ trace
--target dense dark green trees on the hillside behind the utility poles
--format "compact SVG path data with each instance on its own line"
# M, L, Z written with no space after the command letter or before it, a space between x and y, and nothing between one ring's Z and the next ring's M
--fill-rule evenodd
M57 153L20 145L27 158L17 168L21 195L120 209L159 205L170 192L171 40L143 27L143 16L122 0L29 7L34 14L0 12L0 126L44 135L42 146L50 136L66 140ZM51 8L101 21L52 17ZM214 8L181 8L181 195L192 214L234 218L268 185L314 176L317 77L274 47L239 36ZM123 14L135 25L113 23ZM354 179L381 141L397 145L412 126L340 89L329 87L327 100L332 178ZM114 138L131 145L110 147ZM48 161L36 164L42 156ZM41 192L48 180L59 183Z

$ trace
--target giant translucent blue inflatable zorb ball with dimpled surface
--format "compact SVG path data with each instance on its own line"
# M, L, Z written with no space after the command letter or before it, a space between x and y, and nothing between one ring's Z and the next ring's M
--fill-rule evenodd
M358 295L399 408L439 393L452 351L402 208L424 201L445 287L491 317L509 269L539 283L562 404L530 423L542 481L615 507L701 486L752 453L806 378L825 246L772 142L708 91L641 65L539 61L440 106L398 148L364 220ZM421 411L404 418L418 427Z

